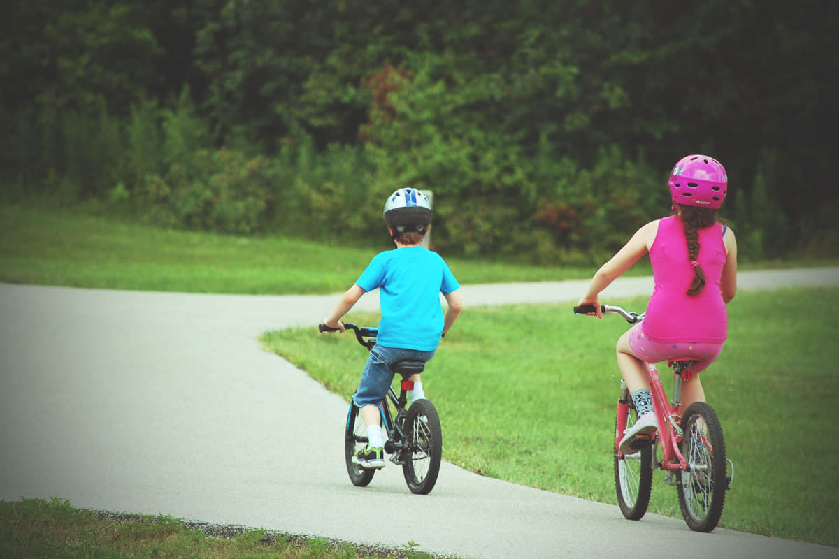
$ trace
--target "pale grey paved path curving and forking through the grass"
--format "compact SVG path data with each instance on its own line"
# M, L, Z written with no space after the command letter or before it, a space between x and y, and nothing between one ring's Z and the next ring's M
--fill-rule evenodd
M839 268L743 272L739 283L839 285ZM467 305L573 302L584 285L467 286L462 295ZM603 298L650 289L649 278L622 279ZM427 496L410 494L395 467L353 487L341 449L347 404L257 341L268 329L314 325L335 303L0 284L0 499L58 496L485 559L607 556L643 541L654 541L644 556L839 557L736 531L696 534L659 515L629 522L616 505L449 463ZM377 303L362 298L362 308Z

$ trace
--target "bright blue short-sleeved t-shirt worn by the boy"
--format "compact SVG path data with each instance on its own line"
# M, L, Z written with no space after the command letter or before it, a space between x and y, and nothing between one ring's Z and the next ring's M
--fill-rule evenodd
M440 293L460 287L442 257L422 246L379 252L356 284L366 292L379 288L376 343L418 351L437 349L443 333Z

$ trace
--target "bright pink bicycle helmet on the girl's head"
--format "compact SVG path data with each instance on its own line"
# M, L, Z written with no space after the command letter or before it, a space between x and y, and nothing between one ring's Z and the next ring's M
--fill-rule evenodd
M670 195L676 204L717 210L726 199L728 176L717 159L688 155L670 171Z

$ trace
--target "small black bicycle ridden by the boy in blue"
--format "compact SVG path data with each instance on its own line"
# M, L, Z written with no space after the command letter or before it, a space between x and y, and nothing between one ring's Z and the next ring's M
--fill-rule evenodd
M355 332L358 343L368 351L376 344L378 329L361 328L352 323L344 323L344 326ZM334 330L326 324L320 324L318 329L320 332ZM405 483L412 493L429 494L437 482L437 474L440 474L440 455L443 452L440 416L429 400L413 401L406 407L408 391L414 387L409 378L421 373L425 369L425 363L404 360L393 364L392 369L393 373L402 376L402 383L399 396L391 387L388 395L379 404L382 425L387 432L384 452L392 455L391 462L402 466ZM356 453L367 446L367 427L359 411L360 408L351 401L344 432L344 458L352 484L366 487L373 480L376 470L362 468L352 462Z

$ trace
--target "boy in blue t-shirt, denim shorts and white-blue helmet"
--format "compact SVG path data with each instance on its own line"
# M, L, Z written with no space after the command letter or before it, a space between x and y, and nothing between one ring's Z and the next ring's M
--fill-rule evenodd
M378 404L393 381L390 365L401 360L428 361L434 357L440 338L461 312L459 285L446 262L436 252L420 246L431 224L428 197L417 189L398 189L384 204L395 250L373 257L357 282L341 297L335 310L323 321L344 332L341 318L362 295L379 288L382 319L376 345L370 350L358 389L352 401L362 411L369 442L352 461L362 468L384 467L384 437ZM448 308L444 315L440 293ZM410 401L425 397L420 375L413 375Z

